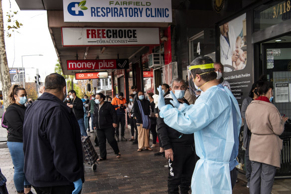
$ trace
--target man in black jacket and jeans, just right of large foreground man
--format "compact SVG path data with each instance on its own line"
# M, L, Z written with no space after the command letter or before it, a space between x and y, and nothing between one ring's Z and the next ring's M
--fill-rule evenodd
M85 129L85 122L84 122L83 102L80 98L76 96L75 90L70 90L69 95L70 95L71 102L70 104L67 104L67 105L73 110L73 113L75 114L75 117L79 123L79 127L81 130L81 135L87 136L87 132Z

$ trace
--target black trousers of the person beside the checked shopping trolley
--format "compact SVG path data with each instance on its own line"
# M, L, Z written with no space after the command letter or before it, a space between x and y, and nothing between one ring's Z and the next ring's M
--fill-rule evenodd
M113 149L115 154L119 153L119 148L117 141L114 138L114 128L105 128L105 129L97 129L97 138L99 141L99 151L100 151L100 157L103 159L106 159L106 139Z

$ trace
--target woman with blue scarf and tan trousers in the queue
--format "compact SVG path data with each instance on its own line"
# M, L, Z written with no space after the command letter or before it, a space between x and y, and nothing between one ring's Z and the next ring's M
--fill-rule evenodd
M150 103L145 99L145 93L143 91L138 92L138 99L134 103L135 117L137 118L138 127L138 152L145 150L152 151L148 144L148 133L150 128L149 115L151 113Z

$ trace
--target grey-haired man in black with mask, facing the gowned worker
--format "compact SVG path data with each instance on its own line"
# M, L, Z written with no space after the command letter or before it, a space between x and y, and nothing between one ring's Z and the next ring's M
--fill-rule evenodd
M178 99L179 103L188 103L184 98L187 86L183 79L175 78L170 84L170 90ZM165 104L171 104L171 94L164 96ZM172 104L171 104L172 105ZM165 158L168 160L168 194L178 194L179 186L181 194L188 194L191 178L196 163L194 147L194 135L182 134L167 126L163 119L158 116L157 133L160 136Z

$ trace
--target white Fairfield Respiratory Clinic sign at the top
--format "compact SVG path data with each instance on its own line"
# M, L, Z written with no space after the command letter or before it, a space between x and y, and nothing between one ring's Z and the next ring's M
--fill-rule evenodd
M171 0L63 0L65 22L172 22Z

